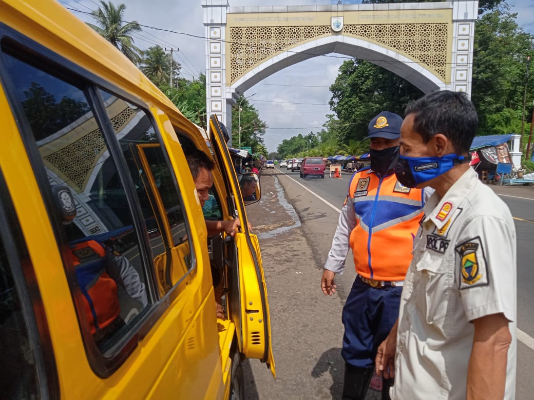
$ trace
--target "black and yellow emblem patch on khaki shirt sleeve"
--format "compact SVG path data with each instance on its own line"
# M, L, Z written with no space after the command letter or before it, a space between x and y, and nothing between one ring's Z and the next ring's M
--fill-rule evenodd
M459 255L457 258L460 269L459 289L489 285L488 264L480 236L456 246L456 252Z

